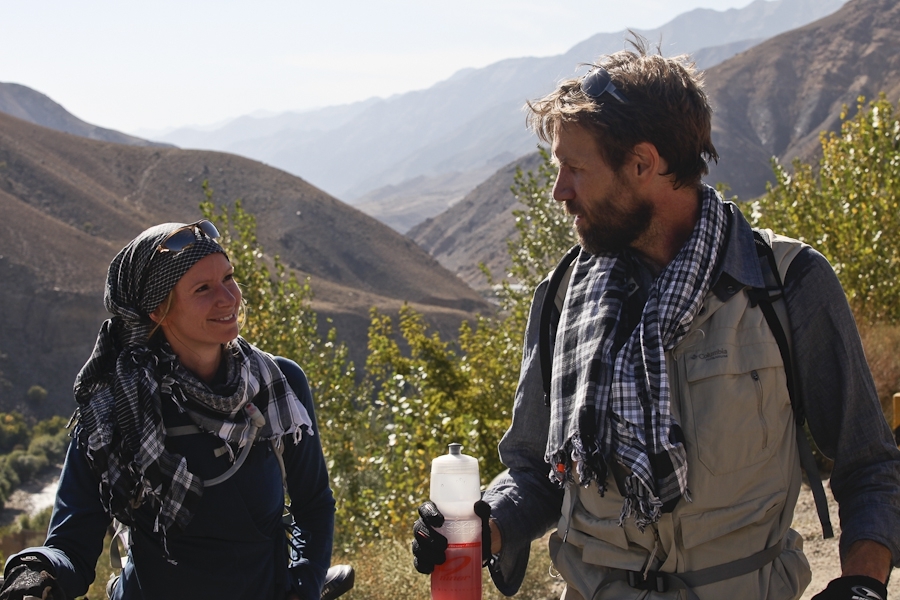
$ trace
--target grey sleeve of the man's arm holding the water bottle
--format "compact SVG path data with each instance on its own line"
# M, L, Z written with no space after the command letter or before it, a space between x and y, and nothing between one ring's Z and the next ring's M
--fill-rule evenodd
M545 280L532 300L512 424L500 441L500 460L509 470L484 494L503 540L491 577L507 596L522 585L531 542L559 521L562 506L563 490L550 481L550 467L544 462L550 408L544 404L538 333L546 288Z

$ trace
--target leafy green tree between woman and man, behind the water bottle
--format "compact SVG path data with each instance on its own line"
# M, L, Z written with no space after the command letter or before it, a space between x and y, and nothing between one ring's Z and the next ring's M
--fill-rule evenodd
M498 283L482 265L497 293L498 315L464 322L453 344L430 333L409 307L400 311L396 332L389 317L373 313L366 365L375 390L370 421L383 425L373 426L377 451L364 462L377 476L368 499L375 512L366 518L378 523L379 536L408 528L428 495L431 460L448 443L460 442L479 458L484 483L503 468L496 449L509 426L531 294L575 242L569 219L550 196L556 168L549 153L540 152L537 172L518 170L511 188L524 209L514 212L518 235L508 242L508 277Z

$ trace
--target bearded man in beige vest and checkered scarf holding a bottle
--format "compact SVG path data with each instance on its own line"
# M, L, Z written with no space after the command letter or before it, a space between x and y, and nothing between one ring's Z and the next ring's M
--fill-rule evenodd
M798 598L811 577L790 529L796 427L751 293L766 285L754 234L700 181L717 155L699 77L635 46L529 104L582 251L549 406L538 360L547 282L535 292L500 443L509 472L483 498L491 575L515 593L530 542L557 525L550 552L566 600ZM794 240L776 236L772 249L795 394L835 460L842 576L817 598L883 600L900 564L900 452L834 272ZM430 572L443 560L442 517L429 503L420 516L413 551Z

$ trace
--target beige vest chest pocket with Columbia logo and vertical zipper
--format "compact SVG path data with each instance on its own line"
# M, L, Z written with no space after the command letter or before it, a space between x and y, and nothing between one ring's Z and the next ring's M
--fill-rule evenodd
M714 475L768 460L787 404L784 369L774 343L718 345L684 355L683 420L700 462Z

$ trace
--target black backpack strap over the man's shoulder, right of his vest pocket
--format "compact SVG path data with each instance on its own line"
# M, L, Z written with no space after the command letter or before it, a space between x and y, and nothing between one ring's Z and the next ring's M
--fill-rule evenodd
M831 516L828 514L828 499L825 496L825 487L822 485L822 477L819 474L819 468L816 466L816 459L813 457L812 448L810 448L809 440L806 439L806 430L803 424L806 422L806 415L803 411L803 405L797 395L796 380L794 377L793 353L788 341L787 333L778 318L776 311L776 303L782 309L784 319L787 319L787 309L784 306L784 284L781 275L778 273L778 263L775 260L775 253L772 251L772 242L768 235L764 232L754 229L753 238L756 242L756 254L759 256L759 264L762 268L763 278L766 287L762 289L748 290L750 302L753 306L759 306L766 318L772 335L778 343L778 351L781 353L781 360L784 362L784 374L787 379L788 396L791 399L791 410L794 413L794 424L797 428L797 450L800 453L800 464L806 471L806 477L809 479L809 487L812 490L813 498L816 501L816 512L819 514L819 522L822 524L822 536L824 538L834 537L834 529L831 526Z

